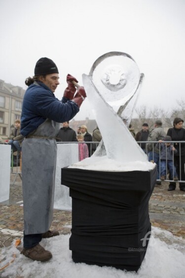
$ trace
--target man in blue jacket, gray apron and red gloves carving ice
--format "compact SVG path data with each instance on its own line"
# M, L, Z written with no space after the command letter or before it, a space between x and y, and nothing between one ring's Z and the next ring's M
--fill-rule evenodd
M22 254L32 260L45 262L51 252L45 250L41 239L59 235L49 231L53 218L54 185L57 144L60 123L74 118L86 97L83 87L76 92L73 81L67 75L68 87L62 100L54 92L59 85L59 72L49 58L40 58L35 76L26 79L28 87L22 106L22 186L24 202L24 237ZM83 97L82 97L83 96Z

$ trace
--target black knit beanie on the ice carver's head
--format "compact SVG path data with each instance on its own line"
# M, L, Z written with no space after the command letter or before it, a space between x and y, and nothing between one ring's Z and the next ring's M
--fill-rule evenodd
M51 73L59 73L56 64L49 58L40 58L35 67L35 76L46 75Z

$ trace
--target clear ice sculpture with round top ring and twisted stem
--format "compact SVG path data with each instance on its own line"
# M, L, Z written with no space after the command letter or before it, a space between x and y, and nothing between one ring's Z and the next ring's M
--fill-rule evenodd
M144 78L133 58L122 52L106 53L82 78L87 97L95 107L107 157L123 164L147 162L147 155L127 128ZM102 155L101 145L94 156Z

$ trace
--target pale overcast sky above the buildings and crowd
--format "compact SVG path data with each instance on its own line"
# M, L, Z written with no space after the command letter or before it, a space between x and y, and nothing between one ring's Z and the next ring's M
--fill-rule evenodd
M0 79L26 89L40 57L82 84L104 53L130 54L145 74L138 105L174 107L185 95L185 0L0 0ZM75 119L94 118L86 99Z

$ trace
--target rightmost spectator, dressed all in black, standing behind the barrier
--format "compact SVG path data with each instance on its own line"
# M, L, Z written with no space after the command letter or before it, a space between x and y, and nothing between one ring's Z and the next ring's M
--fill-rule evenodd
M185 141L185 129L183 128L184 120L175 118L173 128L167 131L167 135L171 137L172 141ZM174 162L177 168L178 178L185 181L185 143L174 143L177 153L174 155ZM171 178L172 180L172 178ZM185 191L185 182L179 183L180 190ZM175 190L176 183L170 182L168 191Z

